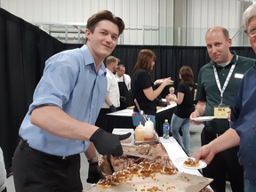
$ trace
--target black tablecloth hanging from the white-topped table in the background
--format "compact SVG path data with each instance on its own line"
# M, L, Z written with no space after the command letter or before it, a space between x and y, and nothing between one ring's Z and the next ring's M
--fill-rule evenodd
M163 136L164 119L168 119L169 124L171 124L172 114L175 108L176 107L168 108L156 113L156 132L160 137ZM107 115L107 122L106 126L102 127L107 132L112 132L114 128L134 128L132 124L132 116Z

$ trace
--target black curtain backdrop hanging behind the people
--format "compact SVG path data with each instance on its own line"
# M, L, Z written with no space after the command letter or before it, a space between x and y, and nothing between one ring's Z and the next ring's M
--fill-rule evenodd
M7 171L12 167L13 152L18 144L20 124L32 102L33 92L44 71L44 62L57 52L83 44L62 44L41 29L0 8L0 146L4 151ZM183 65L194 71L210 58L205 47L116 45L112 55L121 60L131 75L138 53L150 49L156 53L152 80L171 76L174 87L179 84ZM256 58L251 47L232 47L238 55Z

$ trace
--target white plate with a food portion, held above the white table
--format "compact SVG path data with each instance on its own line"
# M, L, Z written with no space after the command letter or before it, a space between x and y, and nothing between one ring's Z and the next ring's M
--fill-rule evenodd
M207 166L207 164L204 161L199 160L199 162L197 162L195 158L188 156L177 158L176 163L180 164L182 167L186 169L203 169L204 167Z

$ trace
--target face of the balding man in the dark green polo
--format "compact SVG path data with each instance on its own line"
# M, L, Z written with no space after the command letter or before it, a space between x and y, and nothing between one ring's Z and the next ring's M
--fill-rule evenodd
M205 36L207 51L210 58L217 64L228 62L231 39L225 39L221 29L209 31Z

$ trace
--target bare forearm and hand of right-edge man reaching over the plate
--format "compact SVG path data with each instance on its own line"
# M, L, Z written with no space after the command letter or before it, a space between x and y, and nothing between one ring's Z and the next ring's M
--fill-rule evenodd
M213 157L220 151L239 145L240 137L236 133L236 130L229 128L227 132L224 132L220 137L212 140L207 145L199 148L193 157L196 161L199 159L203 160L206 164L210 164Z

